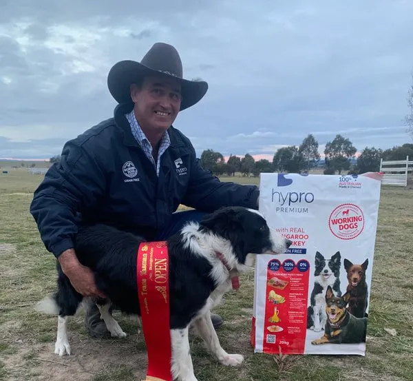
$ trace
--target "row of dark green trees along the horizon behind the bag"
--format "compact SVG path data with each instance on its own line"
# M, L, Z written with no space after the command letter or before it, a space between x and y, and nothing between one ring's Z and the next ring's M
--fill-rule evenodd
M215 174L235 176L240 172L242 176L259 176L262 172L308 173L315 167L323 167L324 174L361 174L377 172L380 169L380 160L404 160L406 156L413 158L413 144L405 143L388 150L376 147L365 147L356 159L357 148L348 138L337 134L332 141L326 143L324 149L325 160L321 165L319 143L309 134L297 147L291 145L282 147L273 156L273 161L260 159L255 161L251 154L244 157L229 156L227 161L220 152L204 150L200 157L200 165Z

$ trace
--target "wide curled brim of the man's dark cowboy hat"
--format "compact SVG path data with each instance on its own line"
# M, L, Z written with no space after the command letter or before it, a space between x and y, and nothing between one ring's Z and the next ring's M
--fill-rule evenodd
M189 81L166 72L148 68L136 61L120 61L107 74L107 87L118 103L131 103L130 85L138 82L143 76L161 74L176 79L181 85L182 101L180 111L198 103L207 93L208 83L205 81Z

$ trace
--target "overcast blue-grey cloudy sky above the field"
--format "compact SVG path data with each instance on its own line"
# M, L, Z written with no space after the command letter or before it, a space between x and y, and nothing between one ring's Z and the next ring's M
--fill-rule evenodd
M209 83L174 123L198 155L410 142L412 19L410 0L1 0L0 157L49 158L111 117L109 68L157 41Z

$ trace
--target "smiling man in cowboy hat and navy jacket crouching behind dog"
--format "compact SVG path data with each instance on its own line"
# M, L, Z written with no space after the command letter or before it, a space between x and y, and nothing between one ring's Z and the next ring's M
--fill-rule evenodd
M34 192L30 212L41 239L83 296L104 295L73 249L79 224L106 223L147 240L165 240L189 220L225 205L257 208L257 187L221 183L200 167L189 139L172 123L206 94L204 81L182 78L175 48L156 43L142 61L109 71L114 117L63 147ZM180 204L195 210L176 212ZM222 318L213 315L218 328ZM85 325L93 337L109 333L94 303Z

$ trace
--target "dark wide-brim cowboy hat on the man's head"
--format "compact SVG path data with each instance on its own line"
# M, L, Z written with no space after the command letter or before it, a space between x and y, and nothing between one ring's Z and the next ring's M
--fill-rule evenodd
M182 61L172 45L155 43L142 61L125 60L115 63L107 75L107 87L118 103L131 103L130 85L140 82L143 76L162 74L173 77L181 85L180 110L198 103L207 93L205 81L189 81L183 78Z

